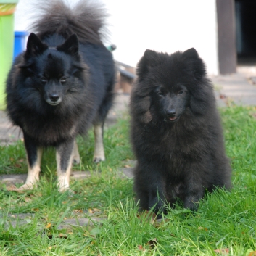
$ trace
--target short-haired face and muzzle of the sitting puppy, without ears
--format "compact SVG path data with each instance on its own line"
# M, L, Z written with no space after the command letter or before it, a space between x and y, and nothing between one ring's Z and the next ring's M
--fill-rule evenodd
M152 93L152 103L162 120L173 123L178 121L188 107L189 91L183 85L171 88L157 86Z

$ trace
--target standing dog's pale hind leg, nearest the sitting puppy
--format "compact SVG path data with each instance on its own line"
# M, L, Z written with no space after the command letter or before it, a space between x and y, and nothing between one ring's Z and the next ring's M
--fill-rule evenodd
M94 141L94 162L104 161L103 123L94 125Z

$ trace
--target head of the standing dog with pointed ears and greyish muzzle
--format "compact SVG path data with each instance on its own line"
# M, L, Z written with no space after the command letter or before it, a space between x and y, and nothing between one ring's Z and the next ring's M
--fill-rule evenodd
M85 67L80 63L77 36L73 34L64 44L49 47L31 33L20 68L28 87L35 89L46 103L57 106L65 96L77 92L83 80ZM33 94L34 99L38 98Z

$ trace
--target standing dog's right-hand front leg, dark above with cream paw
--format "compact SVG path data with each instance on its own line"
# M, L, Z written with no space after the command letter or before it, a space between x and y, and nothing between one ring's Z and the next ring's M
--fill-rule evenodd
M75 139L70 139L56 147L58 187L60 192L70 187L74 142Z

